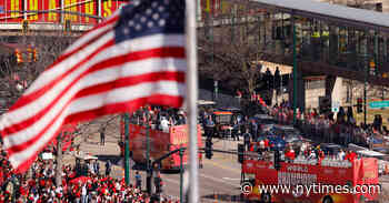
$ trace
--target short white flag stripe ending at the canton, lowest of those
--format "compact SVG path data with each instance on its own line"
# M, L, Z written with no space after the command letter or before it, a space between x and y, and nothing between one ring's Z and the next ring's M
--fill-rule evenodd
M80 61L84 60L87 57L96 52L107 42L113 40L113 38L114 32L109 32L102 35L101 39L99 39L94 43L87 45L84 49L82 49L82 51L74 53L73 55L69 57L68 59L52 67L51 69L43 71L39 75L39 78L32 83L32 85L26 91L24 95L46 87L52 80L56 80L58 77L77 65Z

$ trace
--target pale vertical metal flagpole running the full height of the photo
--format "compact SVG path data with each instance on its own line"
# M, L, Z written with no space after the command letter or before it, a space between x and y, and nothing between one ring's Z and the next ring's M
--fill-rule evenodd
M189 126L189 202L198 203L199 182L198 182L198 141L197 141L197 35L196 35L196 1L187 0L187 108L188 108L188 126Z

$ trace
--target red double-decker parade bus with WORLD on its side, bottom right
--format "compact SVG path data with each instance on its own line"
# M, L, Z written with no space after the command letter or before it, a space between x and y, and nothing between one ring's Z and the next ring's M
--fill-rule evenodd
M242 196L247 202L378 202L381 187L377 159L360 158L351 162L326 159L320 163L317 160L279 161L276 166L278 159L271 155L257 159L249 158L248 153L241 165L242 185L246 185ZM282 186L286 190L281 190Z

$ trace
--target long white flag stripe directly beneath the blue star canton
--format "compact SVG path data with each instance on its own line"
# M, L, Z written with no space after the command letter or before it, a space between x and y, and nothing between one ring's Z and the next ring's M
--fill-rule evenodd
M160 35L158 34L154 38L146 37L144 41L142 41L143 43L141 43L139 40L134 40L134 41L137 41L136 43L138 43L139 47L143 47L144 50L159 48L159 47L169 47L169 45L183 47L184 39L182 35L180 35L180 37L181 38L178 38L178 35L168 35L168 37L166 37L166 39L162 42L160 39ZM121 54L128 54L128 53L132 52L132 50L134 50L134 49L131 49L131 45L130 45L131 43L132 43L131 40L124 41L123 43L113 45L113 47L102 51L101 53L97 54L93 59L91 59L90 61L88 61L87 63L81 65L79 69L77 69L74 72L72 72L70 75L66 77L57 85L52 87L46 94L43 94L39 99L31 101L31 103L16 110L16 111L7 113L6 116L13 118L13 120L10 122L4 122L2 128L10 126L14 123L19 123L23 120L27 120L31 116L34 116L38 112L40 112L42 109L44 109L47 105L49 105L54 100L54 98L57 98L57 95L74 80L74 78L77 78L79 74L81 74L82 72L88 70L91 65L93 65L98 62L101 62L103 60L110 59L112 57L118 57ZM141 49L137 49L136 51L140 51L140 50ZM124 52L124 51L127 51L127 52ZM52 80L52 78L48 78L48 80L49 79ZM31 109L33 109L34 111L31 111ZM29 128L24 129L23 131L26 131ZM14 133L14 134L17 134L17 133ZM13 134L10 134L10 135L13 135ZM4 143L4 146L7 146L6 143Z

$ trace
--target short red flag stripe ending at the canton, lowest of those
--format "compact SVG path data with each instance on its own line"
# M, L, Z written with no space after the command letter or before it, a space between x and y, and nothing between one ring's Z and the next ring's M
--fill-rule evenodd
M96 54L100 53L102 50L111 47L114 44L113 40L108 41L104 45L101 45L99 49L97 49L93 53L91 53L90 55L88 55L86 59L83 59L82 61L80 61L78 64L76 64L73 68L69 69L67 72L64 72L63 74L59 75L58 78L53 79L50 83L46 84L43 88L31 92L28 95L23 95L13 105L12 108L9 110L9 112L16 111L19 108L22 108L31 102L33 102L34 100L39 99L40 97L42 97L44 93L47 93L49 90L52 89L52 87L54 87L57 83L61 82L63 80L63 78L66 78L67 75L71 74L73 71L76 71L79 67L81 67L82 64L84 64L86 62L90 61L91 58L93 58Z

